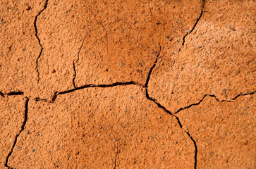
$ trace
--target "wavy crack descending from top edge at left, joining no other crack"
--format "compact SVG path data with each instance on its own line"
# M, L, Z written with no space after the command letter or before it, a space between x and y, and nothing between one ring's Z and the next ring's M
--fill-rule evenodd
M35 66L35 70L36 70L36 72L37 72L37 82L39 82L39 80L40 80L40 77L39 77L40 73L39 73L39 70L38 70L38 60L39 60L39 58L40 58L41 55L42 55L42 51L44 50L44 47L43 47L42 44L41 44L41 40L40 40L39 37L38 37L37 18L38 18L38 16L47 8L48 1L49 1L49 0L46 0L46 1L45 1L44 8L43 8L41 11L39 11L39 13L37 13L37 15L35 16L35 21L34 21L35 37L37 37L38 44L39 44L39 46L41 47L39 56L37 57L36 66Z

